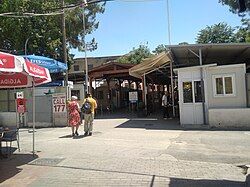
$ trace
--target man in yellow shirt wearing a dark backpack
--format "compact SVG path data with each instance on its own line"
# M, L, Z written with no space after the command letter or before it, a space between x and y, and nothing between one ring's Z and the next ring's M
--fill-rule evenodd
M91 94L86 95L82 104L82 111L84 114L84 136L91 136L93 131L93 121L95 117L95 109L97 108L97 102L92 98Z

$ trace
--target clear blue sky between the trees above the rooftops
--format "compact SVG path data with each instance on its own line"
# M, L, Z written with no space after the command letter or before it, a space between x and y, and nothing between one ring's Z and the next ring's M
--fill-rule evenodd
M201 29L220 22L241 25L240 17L218 1L169 0L171 44L193 44ZM114 0L106 3L105 12L97 20L99 28L86 39L88 42L94 37L98 48L88 51L88 57L124 55L141 44L151 51L169 44L167 0ZM84 52L71 52L74 58L84 57Z

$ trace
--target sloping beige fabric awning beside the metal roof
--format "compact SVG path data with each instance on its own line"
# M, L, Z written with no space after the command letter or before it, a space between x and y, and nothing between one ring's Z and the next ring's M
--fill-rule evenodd
M168 65L172 61L172 57L169 52L162 52L150 58L146 58L142 63L129 69L131 76L142 78L144 74L148 74L154 70Z

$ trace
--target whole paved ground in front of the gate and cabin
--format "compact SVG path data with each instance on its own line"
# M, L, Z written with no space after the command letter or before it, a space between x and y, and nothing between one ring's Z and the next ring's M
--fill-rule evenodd
M0 186L245 186L249 131L184 130L175 120L97 119L94 133L69 127L20 130L21 152L0 160ZM15 145L15 143L14 143Z

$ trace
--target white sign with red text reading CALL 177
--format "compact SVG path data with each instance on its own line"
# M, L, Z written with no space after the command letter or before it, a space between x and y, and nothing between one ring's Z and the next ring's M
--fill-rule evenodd
M53 113L66 113L66 94L53 94Z

